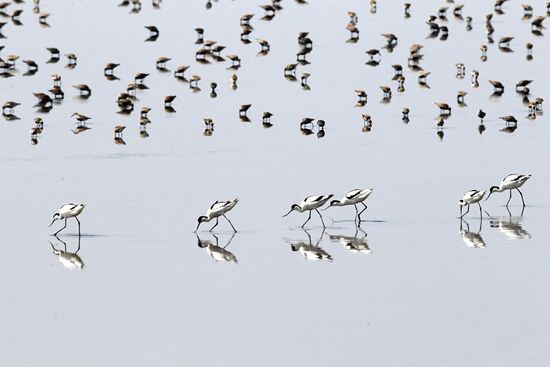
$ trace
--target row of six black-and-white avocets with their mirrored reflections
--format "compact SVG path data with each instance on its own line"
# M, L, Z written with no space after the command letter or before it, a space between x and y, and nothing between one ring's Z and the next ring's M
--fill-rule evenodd
M489 195L485 200L489 198L489 196L494 192L503 192L503 191L509 191L509 198L506 202L506 208L508 209L508 205L510 204L510 200L512 198L512 190L517 190L518 193L521 196L521 201L523 208L525 208L525 201L523 199L523 194L519 190L520 187L523 186L523 184L531 177L531 175L518 175L518 174L511 174L506 177L500 182L498 186L491 186L489 188ZM365 204L365 200L372 194L373 189L354 189L349 191L347 194L343 196L340 200L332 200L329 202L331 198L334 197L334 195L313 195L308 196L300 204L292 204L290 211L283 215L283 217L286 217L293 211L297 211L299 213L308 212L308 218L307 220L302 224L301 228L304 230L306 235L308 236L308 241L300 241L300 242L294 242L291 243L291 249L292 251L300 252L306 259L311 261L332 261L332 256L326 252L322 247L319 246L319 242L322 240L324 233L325 233L325 222L323 220L323 216L321 215L319 209L322 208L327 202L329 202L329 205L326 206L322 210L327 210L334 206L354 206L355 207L355 218L354 223L355 226L355 235L354 236L342 236L342 235L330 235L330 239L335 242L339 242L344 247L351 252L355 253L363 253L363 254L370 254L371 249L369 248L365 238L367 237L367 233L361 229L361 214L367 209L367 205ZM483 238L480 235L481 232L481 226L482 226L482 208L479 204L480 201L485 196L485 191L479 191L479 190L470 190L464 194L464 197L459 201L460 206L460 234L466 243L466 245L470 247L485 247L485 242L483 241ZM239 202L239 199L233 199L233 200L227 200L227 201L216 201L213 203L208 210L206 211L206 215L202 215L198 218L198 224L195 228L195 233L198 231L200 225L204 222L210 222L212 220L215 220L214 226L212 226L209 229L209 232L212 233L214 228L218 226L219 218L223 217L227 220L231 228L233 229L233 234L231 238L227 241L227 243L224 246L220 246L218 241L219 238L216 234L213 234L213 237L215 238L215 243L210 240L204 240L199 237L197 234L197 240L198 240L198 246L200 248L206 249L207 253L215 260L215 261L222 261L222 262L232 262L237 263L237 257L234 253L227 250L227 246L231 244L231 241L233 240L233 237L237 233L237 230L233 226L233 223L229 218L226 216L226 214L231 211ZM469 224L463 219L464 216L469 212L470 205L472 204L478 204L479 206L479 213L480 213L480 221L479 221L479 230L477 232L470 231ZM358 209L358 205L361 205L363 208L361 211ZM465 213L462 213L462 208L466 206L467 211ZM78 251L80 250L80 220L78 219L78 216L82 213L84 210L85 205L84 204L65 204L63 205L56 213L54 213L52 222L50 223L50 226L52 226L57 220L64 221L63 227L61 227L59 230L57 230L53 236L61 242L64 246L64 249L57 248L54 246L53 243L50 242L50 245L52 247L53 253L58 257L59 261L66 266L67 268L72 269L82 269L84 267L84 262L82 261L81 257L78 255ZM322 223L322 232L319 240L316 244L312 243L311 235L305 229L305 225L309 222L311 219L311 212L315 211L319 218L321 219ZM523 210L522 210L523 215ZM63 240L61 240L58 237L58 234L67 228L67 220L69 218L74 218L78 223L78 247L75 252L70 252L67 250L67 244ZM466 224L466 229L463 228L463 223ZM510 238L524 238L529 237L529 234L521 228L516 223L512 222L512 217L510 216L508 221L492 221L491 226L496 226L501 229L508 237ZM361 232L362 236L358 237L358 233Z

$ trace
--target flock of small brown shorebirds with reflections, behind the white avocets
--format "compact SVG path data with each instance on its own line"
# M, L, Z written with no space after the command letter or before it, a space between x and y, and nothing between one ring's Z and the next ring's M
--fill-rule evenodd
M299 3L301 5L307 4L307 1L305 0L295 0L296 3ZM504 6L507 0L496 0L494 3L494 12L487 14L485 16L485 29L486 29L486 41L481 44L480 50L481 50L481 62L487 61L487 51L489 49L489 45L496 43L497 47L500 51L504 53L512 52L511 48L511 42L513 42L514 37L513 36L505 36L501 37L499 40L495 41L493 39L493 35L495 32L495 25L493 24L494 18L497 15L504 14ZM22 4L22 0L14 0L13 6ZM162 0L153 0L152 5L155 8L161 7ZM433 15L430 15L429 18L426 21L426 24L428 26L428 39L439 39L442 41L447 40L449 36L449 25L448 25L448 13L452 13L452 16L464 20L466 19L466 31L472 30L472 16L463 16L463 13L467 10L467 7L464 6L464 4L455 4L454 0L447 0L447 3L450 3L449 6L443 6L439 7L438 9L434 9L435 12ZM376 0L370 0L370 12L373 14L376 14L377 12L377 1ZM6 1L3 3L0 3L0 16L11 19L12 23L17 27L21 25L21 21L19 16L23 12L23 9L15 9L11 15L8 12L10 9L10 6L12 5L12 2ZM208 1L206 4L207 9L212 7L212 2ZM452 6L451 6L452 5ZM13 6L11 6L13 8ZM120 7L131 7L131 13L137 13L142 10L142 1L141 0L124 0L119 4ZM411 12L414 10L414 7L410 3L405 3L403 5L403 15L405 19L412 18ZM543 36L543 30L544 30L544 20L546 19L546 16L550 14L550 3L547 4L547 14L545 15L533 15L533 7L529 4L523 4L522 5L524 10L523 19L524 20L531 20L531 32L535 36ZM283 10L282 6L282 0L272 0L271 3L261 5L260 9L264 12L263 16L260 18L261 21L269 22L276 18L276 15ZM40 11L40 0L34 0L34 9L33 12L37 15L38 22L43 27L50 27L50 24L48 23L48 19L50 14L43 13ZM348 43L357 43L359 41L359 35L360 35L360 24L359 24L359 18L358 14L355 11L349 11L349 23L346 25L346 29L350 32L350 38L347 40ZM246 13L242 15L240 19L240 27L242 28L241 38L240 41L248 45L252 43L250 40L251 34L254 32L254 27L252 24L252 21L254 20L255 13ZM2 31L4 29L7 29L6 27L8 25L7 22L0 22L0 38L4 38ZM148 37L145 41L147 42L155 42L160 36L161 36L161 30L156 25L145 25L145 29L149 32ZM9 32L9 31L8 31ZM197 34L196 44L199 46L199 48L195 52L195 62L198 64L210 64L212 62L214 63L225 63L227 61L230 62L230 65L227 67L228 70L232 71L233 74L231 75L231 89L235 90L238 88L238 75L237 72L241 68L241 57L239 57L236 54L226 54L222 55L223 52L225 52L226 46L220 44L217 41L205 39L205 33L206 30L204 28L195 28L195 32ZM396 34L393 33L383 33L382 37L385 40L385 45L383 47L384 50L387 52L393 52L393 50L396 47L399 47L399 37ZM263 38L257 38L256 39L260 50L258 52L258 56L267 56L269 55L271 51L271 44L269 40L263 39ZM298 51L296 53L296 60L293 63L290 63L286 66L284 66L284 77L288 79L289 81L297 81L297 70L304 65L310 64L310 61L308 60L308 55L313 51L313 40L310 37L308 32L300 32L297 37L297 46ZM5 46L0 46L0 52ZM527 50L527 60L533 59L533 49L534 49L533 43L528 43L526 45ZM428 83L428 77L431 74L430 71L424 70L421 66L422 60L425 59L425 55L422 53L422 50L424 48L423 44L415 43L410 46L410 52L409 57L406 60L406 67L408 67L412 72L417 73L417 80L418 84L421 87L429 88ZM57 63L61 58L61 51L56 47L47 47L47 51L50 54L50 59L47 61L47 63ZM383 55L380 51L380 49L372 48L366 51L366 54L368 56L368 61L366 62L367 65L376 67L381 65ZM7 55L5 60L1 58L0 54L0 75L3 77L12 77L17 75L17 62L20 59L20 56L12 53ZM77 68L77 62L78 57L74 53L66 53L65 57L67 59L67 67L69 70L74 70ZM170 71L168 69L167 64L172 60L171 57L168 56L160 56L158 57L156 63L155 63L155 69L158 72L168 72ZM27 66L27 71L23 74L25 76L32 76L35 75L40 68L40 65L38 62L35 62L34 60L30 59L24 59L23 62ZM392 65L392 69L394 70L394 75L391 78L391 81L397 82L397 87L395 90L398 93L405 93L405 81L406 76L404 74L405 67L403 64L394 64ZM115 75L115 71L117 68L122 67L121 63L119 62L108 62L105 65L105 68L103 70L103 74L105 78L108 81L116 81L119 80L119 78ZM131 65L126 66L131 67ZM198 93L201 91L201 88L199 86L199 82L203 79L203 77L194 74L191 77L186 77L186 72L191 68L190 64L184 64L177 66L173 71L173 76L176 80L186 82L189 85L189 88L195 92ZM457 63L456 64L457 72L456 77L457 78L464 78L466 73L466 66L464 63ZM121 114L130 115L133 113L134 109L137 108L136 104L138 103L137 93L140 90L148 89L148 86L145 84L146 78L148 78L151 75L151 71L145 71L145 72L137 72L134 75L134 78L130 83L127 84L125 89L120 92L118 97L116 98L116 105L118 108L118 112ZM302 89L304 90L310 90L310 86L308 85L308 78L310 77L310 74L307 72L303 72L300 75L300 85ZM480 73L478 70L472 68L471 70L471 87L477 88L479 86L479 77ZM53 85L50 89L47 90L47 92L35 92L34 97L37 99L37 103L34 105L35 108L37 108L37 112L42 114L47 114L49 111L51 111L56 104L61 103L65 98L65 91L62 89L62 75L61 74L53 74L52 75L52 82ZM493 86L494 93L493 96L499 97L502 96L505 90L504 84L499 80L488 80L488 82ZM515 92L523 96L523 103L527 108L527 119L536 119L537 116L542 114L543 108L543 102L544 99L542 97L531 97L531 83L533 80L519 80L515 85ZM89 99L92 98L92 88L85 83L79 83L73 85L74 89L76 90L76 95L79 98L83 99ZM218 83L217 82L211 82L210 83L210 96L212 98L216 98L218 96L217 92ZM393 89L392 87L388 85L381 85L380 90L382 92L382 101L384 103L389 103L392 99L393 95ZM367 105L368 101L368 93L363 89L356 89L355 94L358 98L356 107L364 108ZM468 94L468 91L460 90L457 91L457 100L456 104L459 107L467 107L466 104L466 96ZM163 101L163 109L167 113L175 113L176 110L173 107L172 103L176 100L176 95L168 95L164 98ZM16 108L20 106L22 102L19 101L5 101L2 105L2 112L3 116L8 121L14 121L18 120L19 117L16 115ZM451 117L453 106L448 102L441 102L436 101L435 105L437 107L437 117L436 117L436 124L435 128L437 130L438 136L442 139L443 134L443 128L446 123L446 121ZM249 122L250 119L247 116L247 111L251 108L251 104L242 104L238 108L238 118L243 122ZM139 108L139 134L142 138L146 138L149 136L149 133L147 132L147 126L151 123L151 120L148 117L148 113L151 111L150 106L141 106ZM409 113L410 113L409 107L403 107L402 112L402 120L405 123L408 123L410 121ZM262 113L262 126L265 128L270 128L274 125L272 121L272 117L275 114L270 111L264 111ZM84 131L87 131L90 129L90 127L87 125L87 121L90 120L92 117L89 117L85 114L82 114L80 112L75 112L73 115L75 117L75 127L72 129L72 131L75 134L82 133ZM483 133L485 131L484 126L484 119L486 117L486 112L483 109L479 109L477 116L480 118L480 124L478 126L479 133ZM372 130L373 127L373 121L374 118L368 114L368 113L362 113L361 114L362 121L363 121L363 132L369 132ZM43 129L45 128L45 120L47 118L44 117L36 117L34 119L34 125L30 129L31 132L31 143L37 144L38 143L38 136L42 133ZM518 124L520 123L518 119L514 115L505 115L500 116L500 119L505 121L505 126L502 129L502 131L505 132L514 132ZM311 135L314 133L315 126L318 127L317 130L317 137L322 138L325 136L325 126L326 122L323 119L317 120L317 123L314 124L314 121L316 119L311 117L303 117L298 122L298 127L300 131L304 135ZM204 117L204 135L205 136L211 136L214 131L215 121L211 117ZM114 142L117 144L125 145L125 141L123 139L123 131L125 130L125 125L116 124L113 126L113 132L114 132Z

